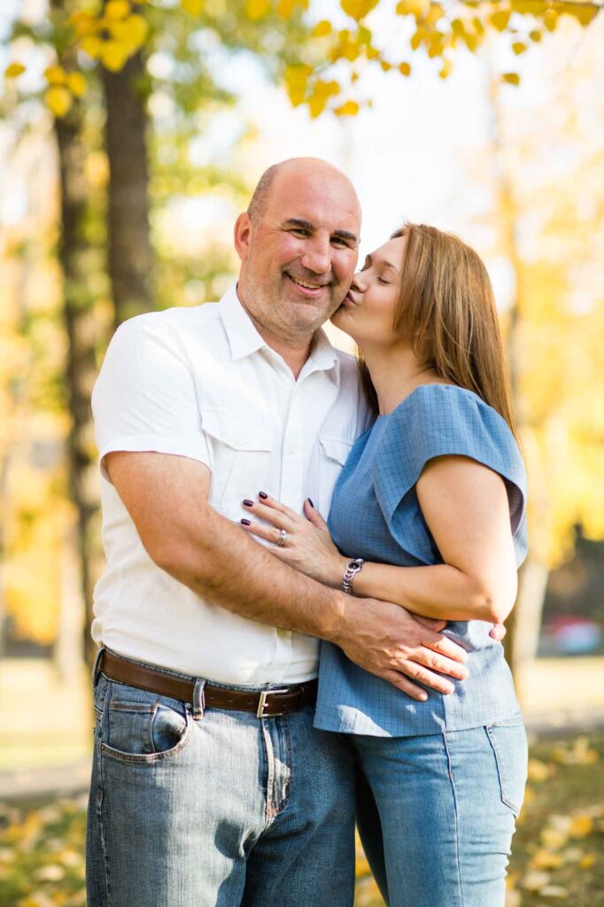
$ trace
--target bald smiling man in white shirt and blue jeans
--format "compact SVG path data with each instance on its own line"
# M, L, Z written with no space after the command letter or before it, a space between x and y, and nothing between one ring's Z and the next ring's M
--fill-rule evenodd
M250 494L326 513L365 428L356 364L319 330L360 219L326 162L271 168L235 226L237 288L133 318L107 352L90 907L350 904L354 773L312 728L317 638L413 696L410 678L446 693L467 673L425 621L326 589L238 525Z

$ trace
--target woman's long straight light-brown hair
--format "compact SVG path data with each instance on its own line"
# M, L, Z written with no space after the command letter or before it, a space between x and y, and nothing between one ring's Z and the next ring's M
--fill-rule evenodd
M406 239L395 330L411 338L422 366L473 391L492 406L518 439L491 280L481 258L452 233L405 223L391 239ZM363 385L376 409L369 371Z

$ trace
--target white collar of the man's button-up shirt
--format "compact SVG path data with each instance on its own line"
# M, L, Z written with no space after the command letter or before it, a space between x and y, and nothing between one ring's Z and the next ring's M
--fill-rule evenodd
M259 349L270 349L265 340L258 334L251 318L241 305L237 294L237 284L233 284L219 301L219 313L227 333L230 355L233 361L244 359L257 353ZM327 339L322 327L313 338L313 345L305 369L311 371L329 371L333 369L333 378L339 384L340 360L336 350Z

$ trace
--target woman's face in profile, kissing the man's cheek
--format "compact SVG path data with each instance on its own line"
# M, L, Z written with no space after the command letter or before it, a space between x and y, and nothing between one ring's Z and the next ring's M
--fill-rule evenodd
M356 340L361 349L364 346L391 346L401 340L393 326L405 242L404 237L389 239L365 258L344 302L332 316L336 327Z

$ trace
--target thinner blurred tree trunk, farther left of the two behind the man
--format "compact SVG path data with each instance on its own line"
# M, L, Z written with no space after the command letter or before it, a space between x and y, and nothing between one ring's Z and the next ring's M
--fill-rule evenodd
M61 175L61 237L59 261L63 270L63 324L69 340L66 384L72 431L67 438L70 497L76 511L77 549L85 609L83 652L93 659L90 636L93 605L93 521L98 511L91 458L93 426L90 394L96 372L93 299L87 293L87 242L84 221L88 191L84 175L85 148L81 109L74 104L67 117L54 122Z

